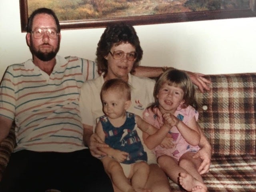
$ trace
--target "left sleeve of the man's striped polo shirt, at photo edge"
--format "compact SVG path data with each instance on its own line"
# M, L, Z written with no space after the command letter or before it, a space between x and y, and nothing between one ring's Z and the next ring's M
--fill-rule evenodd
M8 67L0 84L0 116L14 120L15 113L15 82L12 67Z

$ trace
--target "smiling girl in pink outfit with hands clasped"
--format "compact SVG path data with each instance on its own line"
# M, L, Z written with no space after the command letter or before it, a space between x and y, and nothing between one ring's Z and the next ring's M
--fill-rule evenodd
M172 127L166 137L172 138L175 144L174 148L168 148L163 140L154 149L159 166L185 190L206 192L207 187L198 172L202 160L192 158L200 149L200 132L196 122L198 113L192 107L195 99L190 78L185 72L167 70L156 82L154 99L155 103L144 111L143 118L159 129Z

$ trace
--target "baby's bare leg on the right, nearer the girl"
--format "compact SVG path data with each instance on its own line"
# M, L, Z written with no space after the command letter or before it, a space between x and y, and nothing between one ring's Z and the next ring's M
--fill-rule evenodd
M132 171L128 178L131 178L132 187L137 191L150 192L144 188L149 175L149 165L146 162L132 164Z

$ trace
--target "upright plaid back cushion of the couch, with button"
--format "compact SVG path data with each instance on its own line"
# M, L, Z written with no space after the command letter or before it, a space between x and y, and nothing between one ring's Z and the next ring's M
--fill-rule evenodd
M211 89L198 89L198 122L214 154L255 154L256 74L207 75Z

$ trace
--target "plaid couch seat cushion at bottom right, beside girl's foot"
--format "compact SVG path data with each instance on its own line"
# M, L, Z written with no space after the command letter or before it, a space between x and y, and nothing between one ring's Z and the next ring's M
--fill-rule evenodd
M255 192L256 155L214 155L203 179L209 192ZM172 192L185 191L172 181L170 186Z

